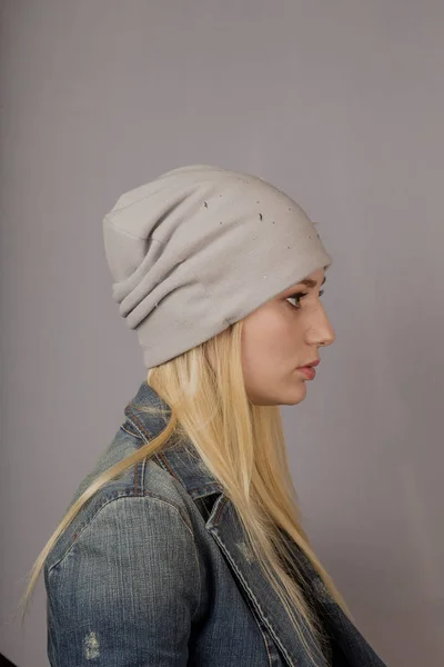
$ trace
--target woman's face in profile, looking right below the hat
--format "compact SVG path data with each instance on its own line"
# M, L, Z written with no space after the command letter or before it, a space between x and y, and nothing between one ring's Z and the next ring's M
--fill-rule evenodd
M299 282L244 318L242 368L254 405L295 405L305 398L310 380L300 367L335 340L320 299L324 276L324 269L311 273L313 287Z

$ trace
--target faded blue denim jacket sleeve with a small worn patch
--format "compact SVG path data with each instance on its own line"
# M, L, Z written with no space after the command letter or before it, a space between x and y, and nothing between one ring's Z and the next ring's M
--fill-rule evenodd
M108 501L44 571L51 667L179 667L200 601L199 561L179 509Z

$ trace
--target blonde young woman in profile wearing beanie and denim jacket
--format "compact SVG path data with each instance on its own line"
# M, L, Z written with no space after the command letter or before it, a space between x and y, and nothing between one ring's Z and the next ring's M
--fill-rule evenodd
M383 667L301 526L281 405L334 332L314 223L264 180L174 169L103 221L147 376L30 575L52 667Z

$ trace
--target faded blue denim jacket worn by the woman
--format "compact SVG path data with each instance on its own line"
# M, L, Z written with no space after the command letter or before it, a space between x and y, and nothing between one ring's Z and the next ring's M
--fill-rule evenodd
M143 381L71 502L164 428L139 409L150 402L164 406ZM294 542L292 551L330 636L331 661L313 647L316 665L384 667ZM312 667L189 441L100 489L53 546L44 583L51 667Z

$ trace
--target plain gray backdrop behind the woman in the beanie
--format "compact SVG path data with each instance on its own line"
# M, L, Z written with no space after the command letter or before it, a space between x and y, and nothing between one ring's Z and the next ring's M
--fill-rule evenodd
M210 162L289 191L334 263L336 342L282 408L306 528L391 666L444 663L444 4L1 6L0 653L42 667L24 576L144 378L102 218ZM276 267L279 270L279 267Z

